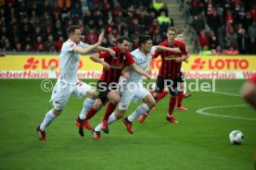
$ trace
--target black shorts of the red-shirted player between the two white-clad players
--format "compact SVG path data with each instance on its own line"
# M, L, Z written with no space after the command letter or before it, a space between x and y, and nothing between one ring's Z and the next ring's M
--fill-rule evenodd
M115 84L118 84L118 83L115 83ZM107 95L109 94L110 91L116 91L117 87L109 86L107 82L98 80L96 84L96 90L98 91L98 98L105 105L106 103L109 103L109 99Z

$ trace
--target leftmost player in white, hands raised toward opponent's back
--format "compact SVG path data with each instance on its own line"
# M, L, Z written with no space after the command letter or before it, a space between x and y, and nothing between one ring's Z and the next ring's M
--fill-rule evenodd
M93 45L88 45L80 41L81 30L78 26L70 26L67 29L67 33L69 40L63 43L60 51L60 74L50 100L54 108L46 113L44 121L36 127L39 140L46 140L45 128L60 115L64 106L69 101L71 94L76 95L78 98L87 96L87 99L83 103L83 110L88 107L90 108L91 104L95 102L94 100L97 97L96 90L77 78L80 55L86 55L93 50L108 51L112 55L115 54L111 49L99 46L103 41L104 32L101 32L98 42ZM96 62L109 68L109 64L100 59Z

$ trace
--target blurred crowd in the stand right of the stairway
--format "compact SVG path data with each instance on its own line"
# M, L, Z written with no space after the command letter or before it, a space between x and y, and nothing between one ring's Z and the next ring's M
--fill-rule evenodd
M254 0L186 0L183 6L202 54L256 54Z

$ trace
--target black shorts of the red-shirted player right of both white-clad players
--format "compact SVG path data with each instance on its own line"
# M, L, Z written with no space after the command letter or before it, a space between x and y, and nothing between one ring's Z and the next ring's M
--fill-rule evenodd
M178 95L179 93L177 89L178 79L166 79L158 76L156 84L157 84L157 88L155 90L156 92L161 92L163 91L164 88L168 88L170 94L172 95Z

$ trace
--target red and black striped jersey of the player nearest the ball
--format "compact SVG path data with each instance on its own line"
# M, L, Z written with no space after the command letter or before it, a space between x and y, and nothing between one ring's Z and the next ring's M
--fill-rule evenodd
M164 42L160 42L159 45L171 48L179 48L181 50L181 54L174 54L167 51L157 51L153 55L154 58L157 58L159 55L161 57L159 76L167 79L177 79L181 72L182 63L176 63L175 58L181 57L182 55L187 55L186 45L183 42L179 41L174 41L173 45L170 45L167 40Z

